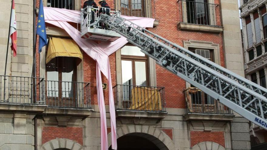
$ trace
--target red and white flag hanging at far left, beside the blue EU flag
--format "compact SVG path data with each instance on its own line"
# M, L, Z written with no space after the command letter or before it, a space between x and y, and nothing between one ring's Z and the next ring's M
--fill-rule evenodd
M12 12L11 12L11 22L10 22L10 39L11 49L13 51L13 56L17 54L17 21L15 16L15 2L12 3Z

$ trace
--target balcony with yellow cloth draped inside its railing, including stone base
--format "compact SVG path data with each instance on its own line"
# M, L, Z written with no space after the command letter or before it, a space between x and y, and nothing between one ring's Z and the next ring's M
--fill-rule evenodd
M117 117L123 124L155 125L165 118L165 88L116 85L113 87Z

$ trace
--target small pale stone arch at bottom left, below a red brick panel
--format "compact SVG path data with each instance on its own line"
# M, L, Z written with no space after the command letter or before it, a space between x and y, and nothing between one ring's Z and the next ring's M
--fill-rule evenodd
M83 146L79 143L67 139L67 138L56 138L50 140L42 145L43 150L84 150Z

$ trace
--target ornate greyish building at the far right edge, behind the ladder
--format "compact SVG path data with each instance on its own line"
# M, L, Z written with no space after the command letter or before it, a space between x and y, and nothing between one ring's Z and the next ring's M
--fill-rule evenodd
M245 77L266 88L267 75L267 1L241 0L242 35L244 43ZM267 131L251 123L250 139L253 150L267 145Z

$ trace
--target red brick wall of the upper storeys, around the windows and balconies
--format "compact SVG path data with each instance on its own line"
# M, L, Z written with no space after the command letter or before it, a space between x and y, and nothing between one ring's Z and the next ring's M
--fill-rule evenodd
M85 0L81 1L81 7ZM99 0L95 1L98 5ZM114 8L114 1L107 0L107 3L111 8ZM155 4L155 5L154 5ZM170 5L166 5L170 4ZM220 4L219 0L215 0L215 4ZM39 3L37 2L37 7ZM166 6L166 7L162 7ZM222 33L206 33L206 32L194 32L194 31L182 31L177 29L177 23L182 22L182 9L181 2L177 3L177 0L151 0L152 18L159 20L159 25L155 28L149 28L150 31L161 35L162 37L183 46L184 41L198 40L207 41L218 44L220 48L220 61L221 66L225 66L224 62L224 50L223 50L223 38ZM155 11L155 13L154 13ZM221 25L220 6L215 7L216 12L216 24ZM37 77L39 76L39 54L38 54L38 42L36 45L36 59L37 59ZM84 82L91 83L91 104L97 104L96 95L96 62L92 60L87 54L83 53L83 72ZM110 68L112 74L112 84L116 85L116 64L115 54L110 56ZM156 65L156 77L157 86L165 87L165 99L167 108L186 108L184 89L185 82L176 75L168 72L166 69L159 65ZM102 82L107 83L107 79L102 75ZM105 104L108 105L108 90L104 90Z

